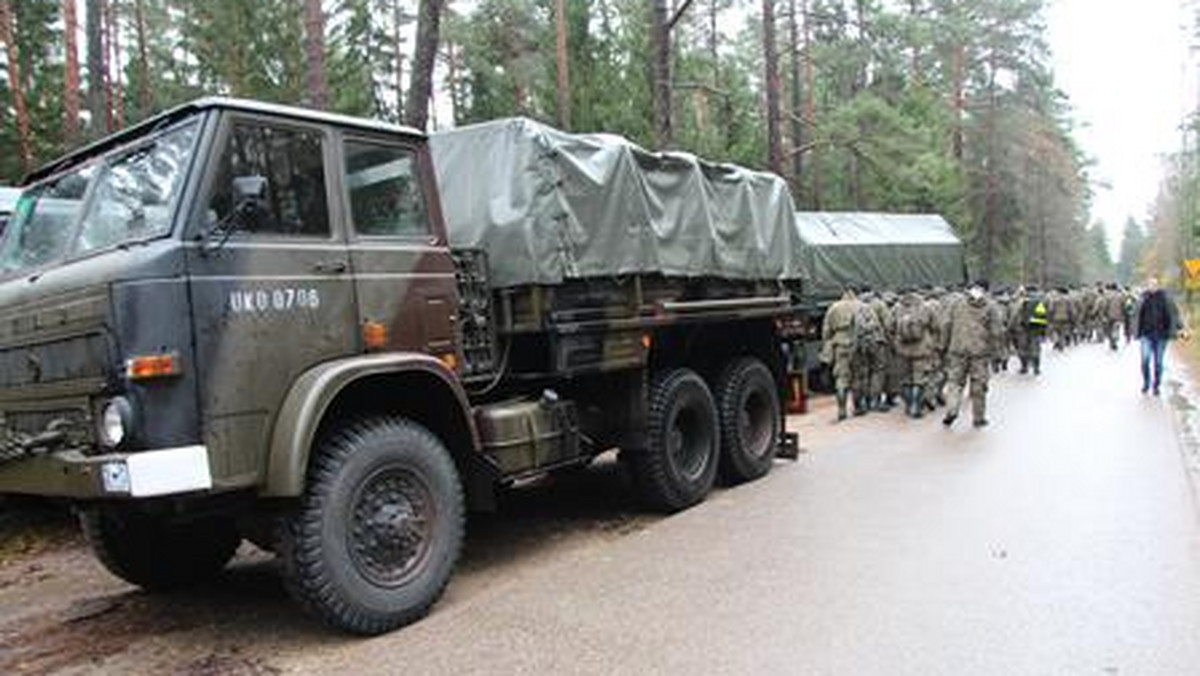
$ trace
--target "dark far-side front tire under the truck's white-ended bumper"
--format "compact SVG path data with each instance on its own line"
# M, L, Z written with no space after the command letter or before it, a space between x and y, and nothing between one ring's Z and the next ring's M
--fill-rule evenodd
M216 578L241 543L233 519L224 516L168 521L130 509L86 509L79 524L104 568L151 591Z

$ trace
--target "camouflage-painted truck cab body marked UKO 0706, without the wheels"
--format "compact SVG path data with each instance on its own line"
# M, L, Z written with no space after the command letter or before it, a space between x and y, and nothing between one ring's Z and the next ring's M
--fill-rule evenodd
M452 371L428 162L413 130L203 100L31 177L0 249L0 490L277 491L266 451L311 367Z

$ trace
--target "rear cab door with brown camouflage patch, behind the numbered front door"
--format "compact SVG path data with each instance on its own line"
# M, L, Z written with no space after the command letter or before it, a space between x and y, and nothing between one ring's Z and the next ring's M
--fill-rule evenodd
M424 145L396 137L342 139L359 322L372 349L425 352L458 364L457 287Z

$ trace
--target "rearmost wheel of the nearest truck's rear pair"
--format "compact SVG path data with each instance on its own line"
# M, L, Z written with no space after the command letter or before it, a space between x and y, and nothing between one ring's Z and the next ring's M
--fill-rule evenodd
M743 483L770 472L780 437L780 403L767 365L752 357L730 364L716 381L716 408L721 478Z

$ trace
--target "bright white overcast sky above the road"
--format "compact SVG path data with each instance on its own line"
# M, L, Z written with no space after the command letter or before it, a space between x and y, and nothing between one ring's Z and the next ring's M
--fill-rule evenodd
M1092 217L1116 251L1127 217L1145 221L1180 146L1180 125L1196 98L1187 64L1194 2L1187 0L1051 0L1050 48L1058 86L1081 124L1076 138L1093 157ZM1187 65L1187 67L1186 67Z

